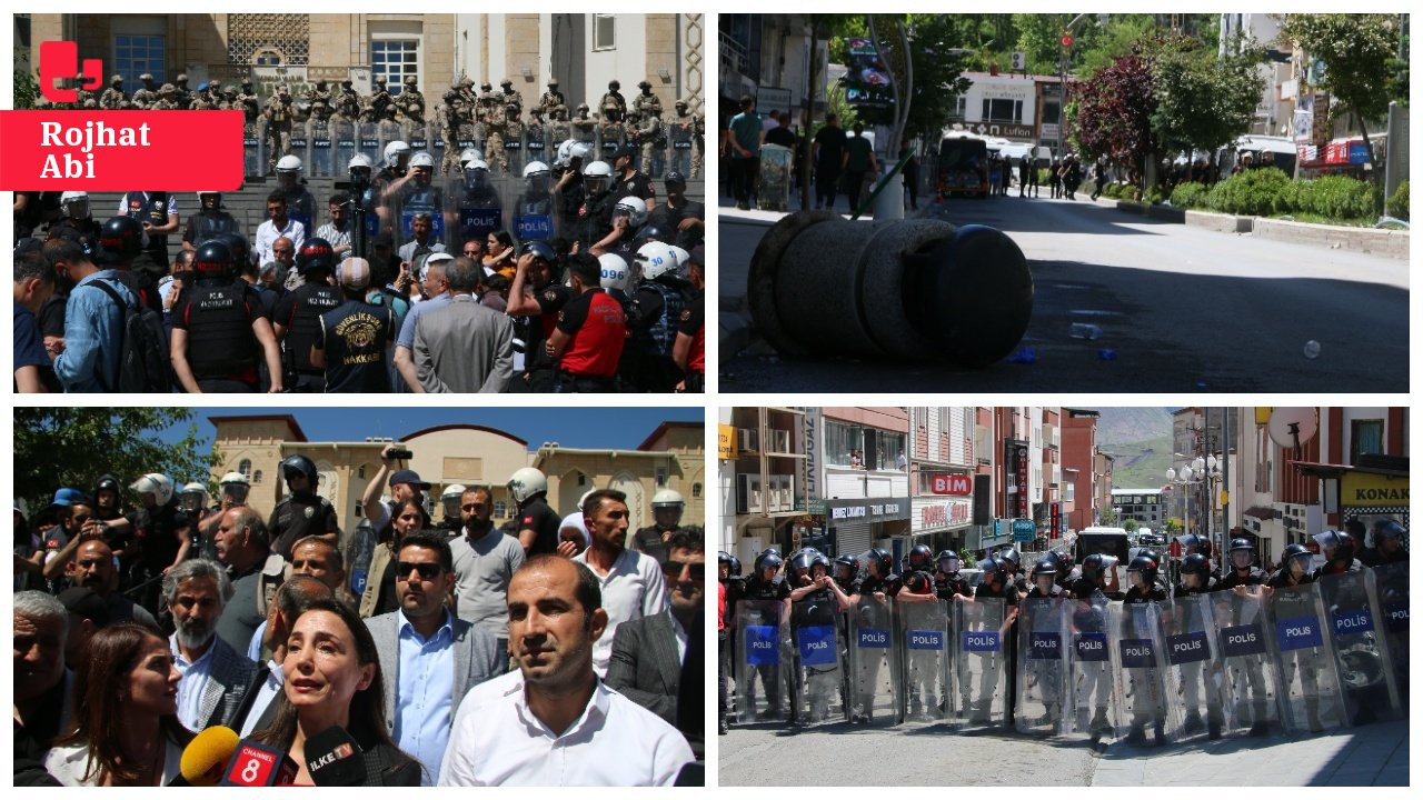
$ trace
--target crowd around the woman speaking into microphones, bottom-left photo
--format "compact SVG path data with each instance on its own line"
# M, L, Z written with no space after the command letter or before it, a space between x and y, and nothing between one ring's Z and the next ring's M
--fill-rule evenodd
M437 501L396 456L359 531L306 456L266 520L238 473L218 502L148 474L132 505L102 475L17 507L16 784L696 784L704 557L680 495L629 534L622 493L561 514L525 467L495 525L490 487Z

